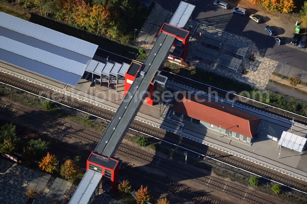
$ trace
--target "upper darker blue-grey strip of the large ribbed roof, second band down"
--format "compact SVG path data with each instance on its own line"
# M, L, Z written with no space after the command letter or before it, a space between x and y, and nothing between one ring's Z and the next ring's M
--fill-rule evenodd
M62 47L58 47L56 45L52 45L50 43L46 43L44 41L35 39L30 36L23 35L21 33L9 30L7 28L3 28L0 26L0 36L4 36L7 38L10 38L12 40L16 40L18 42L27 44L32 47L39 48L41 50L45 50L47 52L51 52L53 54L59 55L61 57L65 57L67 59L71 59L83 64L87 64L87 62L91 59L90 57L87 57L85 55L81 55L79 53L76 53L74 51L70 51L67 49L64 49Z

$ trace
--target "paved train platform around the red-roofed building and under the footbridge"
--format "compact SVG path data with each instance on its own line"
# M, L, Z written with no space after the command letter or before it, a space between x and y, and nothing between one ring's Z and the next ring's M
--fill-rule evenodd
M96 104L112 111L116 111L123 99L123 85L119 85L119 87L117 87L118 91L116 91L116 88L113 86L107 87L96 84L95 88L88 80L81 80L76 88L73 88L71 86L58 84L55 81L21 69L7 67L1 63L0 71L14 74L17 77L46 86L56 92L71 95L80 100ZM168 86L174 90L197 91L170 81L168 82ZM221 100L222 99L219 98L218 103L227 106L232 105L231 102L221 102ZM307 180L307 154L305 152L300 154L299 152L282 147L281 155L278 159L278 153L280 151L278 143L266 138L267 134L280 138L282 131L290 132L292 121L236 103L234 103L234 107L262 118L256 132L256 134L258 133L259 138L255 138L251 144L230 139L224 135L219 137L219 132L216 132L215 130L204 130L195 127L193 124L183 124L177 121L172 121L171 119L168 119L168 115L166 114L166 112L169 113L171 107L161 105L155 105L152 107L143 103L136 119L175 132L182 136L192 138L193 140L202 142L206 145L231 152L239 157L274 168L297 178ZM161 117L162 115L164 116ZM305 136L307 134L307 127L294 122L292 133Z

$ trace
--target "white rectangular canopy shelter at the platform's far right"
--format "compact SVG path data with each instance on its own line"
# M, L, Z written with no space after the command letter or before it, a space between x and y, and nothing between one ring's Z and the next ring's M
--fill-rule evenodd
M305 146L307 138L298 136L296 134L283 131L282 136L278 142L278 145L293 149L298 152L302 152Z

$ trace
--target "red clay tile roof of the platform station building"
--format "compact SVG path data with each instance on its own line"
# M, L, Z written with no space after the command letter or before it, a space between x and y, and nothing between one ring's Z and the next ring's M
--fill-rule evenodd
M255 131L261 121L254 115L229 108L221 104L205 100L194 95L191 100L185 98L183 93L178 95L180 101L176 101L172 110L187 115L223 129L230 130L244 136L253 138ZM197 101L201 100L200 102Z

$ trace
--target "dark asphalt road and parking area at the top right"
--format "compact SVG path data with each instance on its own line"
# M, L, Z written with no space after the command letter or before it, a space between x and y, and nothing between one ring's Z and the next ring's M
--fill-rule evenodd
M164 9L168 9L173 13L176 11L180 1L179 0L156 0ZM249 15L257 13L256 10L249 9L246 16L242 16L231 12L231 8L223 10L213 6L213 0L188 0L185 1L195 5L195 9L192 14L194 21L202 22L203 24L210 25L214 28L233 33L239 36L244 36L256 43L261 56L269 57L270 59L277 60L278 62L285 63L294 66L301 70L307 71L305 65L307 52L300 51L299 49L293 49L286 45L278 45L275 42L274 36L269 36L264 30L266 21L270 20L269 17L264 17L264 22L257 24L251 21ZM283 28L272 26L278 35L285 33ZM294 31L293 25L293 31ZM285 43L290 43L292 36L285 38Z

